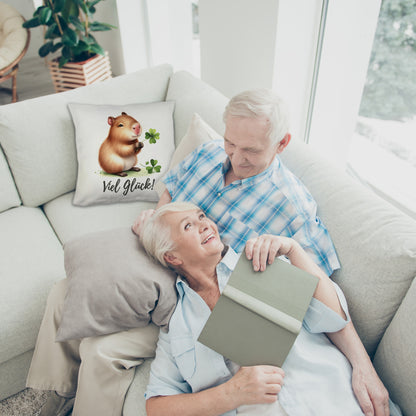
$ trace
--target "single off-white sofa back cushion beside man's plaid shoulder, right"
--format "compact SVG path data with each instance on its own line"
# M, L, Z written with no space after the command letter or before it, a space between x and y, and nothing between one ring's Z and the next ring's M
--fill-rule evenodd
M416 223L309 145L291 143L282 160L316 199L341 263L332 277L373 355L416 275Z

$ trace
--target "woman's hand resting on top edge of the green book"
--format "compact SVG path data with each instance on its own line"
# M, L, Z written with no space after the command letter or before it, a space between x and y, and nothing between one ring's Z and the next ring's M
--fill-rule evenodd
M245 251L257 272L266 270L267 264L272 264L277 256L289 256L297 244L292 238L264 234L248 240Z

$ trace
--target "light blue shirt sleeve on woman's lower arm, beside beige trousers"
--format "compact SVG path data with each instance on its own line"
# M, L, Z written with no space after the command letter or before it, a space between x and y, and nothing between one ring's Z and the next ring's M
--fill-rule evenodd
M181 393L191 393L191 388L183 379L173 359L169 334L160 331L156 357L150 367L149 383L144 395L145 399Z

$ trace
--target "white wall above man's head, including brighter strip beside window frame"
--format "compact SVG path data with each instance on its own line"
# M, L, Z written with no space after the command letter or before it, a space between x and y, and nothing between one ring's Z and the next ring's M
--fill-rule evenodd
M200 0L202 79L229 97L275 90L288 105L292 137L303 140L321 7L321 0Z

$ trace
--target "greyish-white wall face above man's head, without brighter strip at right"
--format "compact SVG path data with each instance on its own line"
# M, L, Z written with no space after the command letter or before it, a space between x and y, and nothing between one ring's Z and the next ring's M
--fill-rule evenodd
M271 88L278 0L200 0L201 78L232 96Z

